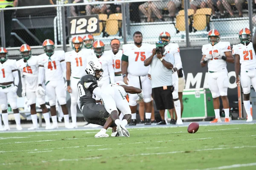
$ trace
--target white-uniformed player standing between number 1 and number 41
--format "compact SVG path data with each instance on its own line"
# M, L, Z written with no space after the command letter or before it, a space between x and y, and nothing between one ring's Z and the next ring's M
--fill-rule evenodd
M20 70L21 85L22 85L22 96L27 98L28 105L30 105L31 118L33 126L29 127L28 130L38 129L38 121L35 103L36 100L41 106L44 120L46 123L45 129L50 129L50 118L48 109L45 105L45 95L39 95L35 93L38 88L38 56L32 56L31 48L27 44L20 46L20 55L22 59L16 62L17 68Z

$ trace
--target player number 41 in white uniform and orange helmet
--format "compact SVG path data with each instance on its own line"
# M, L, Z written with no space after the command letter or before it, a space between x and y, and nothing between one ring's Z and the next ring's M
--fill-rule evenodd
M63 79L63 73L66 72L65 52L54 51L54 42L52 40L45 40L43 42L43 48L45 53L41 54L39 60L39 74L38 74L38 93L45 94L45 90L42 87L45 77L46 93L49 99L50 111L52 115L52 127L51 129L58 128L57 116L56 116L56 97L61 105L61 109L64 113L64 122L66 128L73 128L69 124L69 116L66 106L66 90Z

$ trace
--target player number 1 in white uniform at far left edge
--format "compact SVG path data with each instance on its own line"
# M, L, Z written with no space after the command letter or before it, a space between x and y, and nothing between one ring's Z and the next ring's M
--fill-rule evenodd
M20 113L17 108L17 89L19 85L19 73L15 59L8 59L6 48L0 48L0 104L2 109L3 124L0 119L0 130L10 130L8 121L8 102L13 110L17 130L20 126ZM0 116L1 117L1 116Z

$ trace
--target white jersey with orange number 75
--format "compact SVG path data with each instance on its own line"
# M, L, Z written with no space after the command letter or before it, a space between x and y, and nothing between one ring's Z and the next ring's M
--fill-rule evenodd
M144 61L152 55L155 45L142 43L140 47L135 44L123 45L123 61L128 61L128 74L134 76L145 76L148 74L149 66L144 66Z

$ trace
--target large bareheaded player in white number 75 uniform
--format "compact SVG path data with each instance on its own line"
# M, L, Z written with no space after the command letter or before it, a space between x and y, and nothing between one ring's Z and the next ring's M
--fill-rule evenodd
M145 125L151 125L151 80L148 79L149 66L144 66L144 60L151 56L153 46L142 43L143 36L140 31L136 31L133 35L134 43L123 45L122 55L122 76L127 85L140 88L144 92L145 102ZM136 94L129 94L129 105L131 108L131 124L136 125L137 103Z

